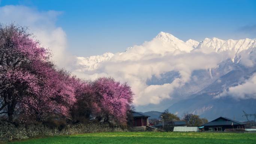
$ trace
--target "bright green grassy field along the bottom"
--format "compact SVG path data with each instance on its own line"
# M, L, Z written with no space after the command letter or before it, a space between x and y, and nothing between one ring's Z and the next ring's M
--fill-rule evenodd
M256 144L256 133L98 132L16 141L8 144Z

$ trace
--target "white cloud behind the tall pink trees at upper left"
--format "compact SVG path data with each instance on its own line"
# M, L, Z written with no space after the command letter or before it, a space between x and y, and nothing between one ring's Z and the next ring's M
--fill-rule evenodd
M49 10L40 12L26 6L0 7L0 19L3 24L27 26L43 46L51 49L53 60L60 66L67 65L70 56L65 51L67 47L66 34L61 27L55 25L57 16L61 12Z

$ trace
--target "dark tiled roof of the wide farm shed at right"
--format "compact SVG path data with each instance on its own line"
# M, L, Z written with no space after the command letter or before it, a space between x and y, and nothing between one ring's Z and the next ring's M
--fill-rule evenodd
M232 120L226 117L219 117L211 122L205 123L202 126L221 126L221 125L245 125L242 122L238 122L236 120Z

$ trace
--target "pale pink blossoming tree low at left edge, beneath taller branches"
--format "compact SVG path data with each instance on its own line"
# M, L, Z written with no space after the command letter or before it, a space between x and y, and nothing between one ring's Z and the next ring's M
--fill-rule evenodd
M34 104L33 95L39 93L37 78L27 71L9 70L5 74L0 74L1 78L1 111L6 113L12 121L12 115L16 111L16 106L25 106L27 102Z

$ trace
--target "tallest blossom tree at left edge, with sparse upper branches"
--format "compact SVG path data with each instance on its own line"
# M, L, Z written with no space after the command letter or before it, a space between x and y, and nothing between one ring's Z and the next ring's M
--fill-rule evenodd
M39 92L34 59L48 59L47 49L30 36L24 28L0 25L0 113L10 121L18 106Z

